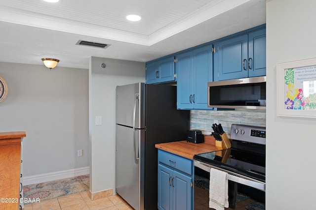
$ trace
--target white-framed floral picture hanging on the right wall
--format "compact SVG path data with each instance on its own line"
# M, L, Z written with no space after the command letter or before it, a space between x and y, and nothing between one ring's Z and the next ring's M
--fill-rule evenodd
M277 116L316 118L316 58L277 63Z

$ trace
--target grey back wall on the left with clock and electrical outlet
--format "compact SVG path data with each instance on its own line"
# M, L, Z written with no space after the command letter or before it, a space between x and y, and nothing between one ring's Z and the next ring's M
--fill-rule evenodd
M88 167L88 69L0 62L0 76L0 132L26 131L24 177Z

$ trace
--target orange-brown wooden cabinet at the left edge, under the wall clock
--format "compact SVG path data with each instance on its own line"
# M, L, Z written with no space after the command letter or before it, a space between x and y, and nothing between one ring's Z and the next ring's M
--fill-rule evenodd
M0 210L20 209L21 142L24 131L0 132Z

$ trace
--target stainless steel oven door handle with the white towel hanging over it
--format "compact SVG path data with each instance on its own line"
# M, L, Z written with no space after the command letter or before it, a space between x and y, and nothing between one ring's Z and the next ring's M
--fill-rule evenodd
M206 164L206 163L202 163L202 162L200 162L198 160L194 160L194 166L196 166L197 168L200 168L200 169L202 169L202 170L204 170L204 171L206 171L208 173L210 173L211 168L215 168L217 170L227 172L227 177L226 178L228 180L235 181L237 183L244 184L244 185L247 185L247 186L251 186L251 187L254 187L254 188L262 190L262 191L266 191L266 183L264 183L262 181L251 179L251 178L239 175L239 174L235 174L234 172L230 172L228 170L225 170L225 169L222 169L222 168L219 168L219 167L216 167L216 166L212 166L212 165L209 165L209 164Z

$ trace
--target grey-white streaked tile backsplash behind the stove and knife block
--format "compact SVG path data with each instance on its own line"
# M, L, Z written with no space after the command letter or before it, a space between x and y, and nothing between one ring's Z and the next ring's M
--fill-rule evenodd
M248 124L256 126L266 126L266 110L192 110L190 129L202 130L203 134L208 135L213 131L214 120L221 123L227 134L231 132L232 124Z

